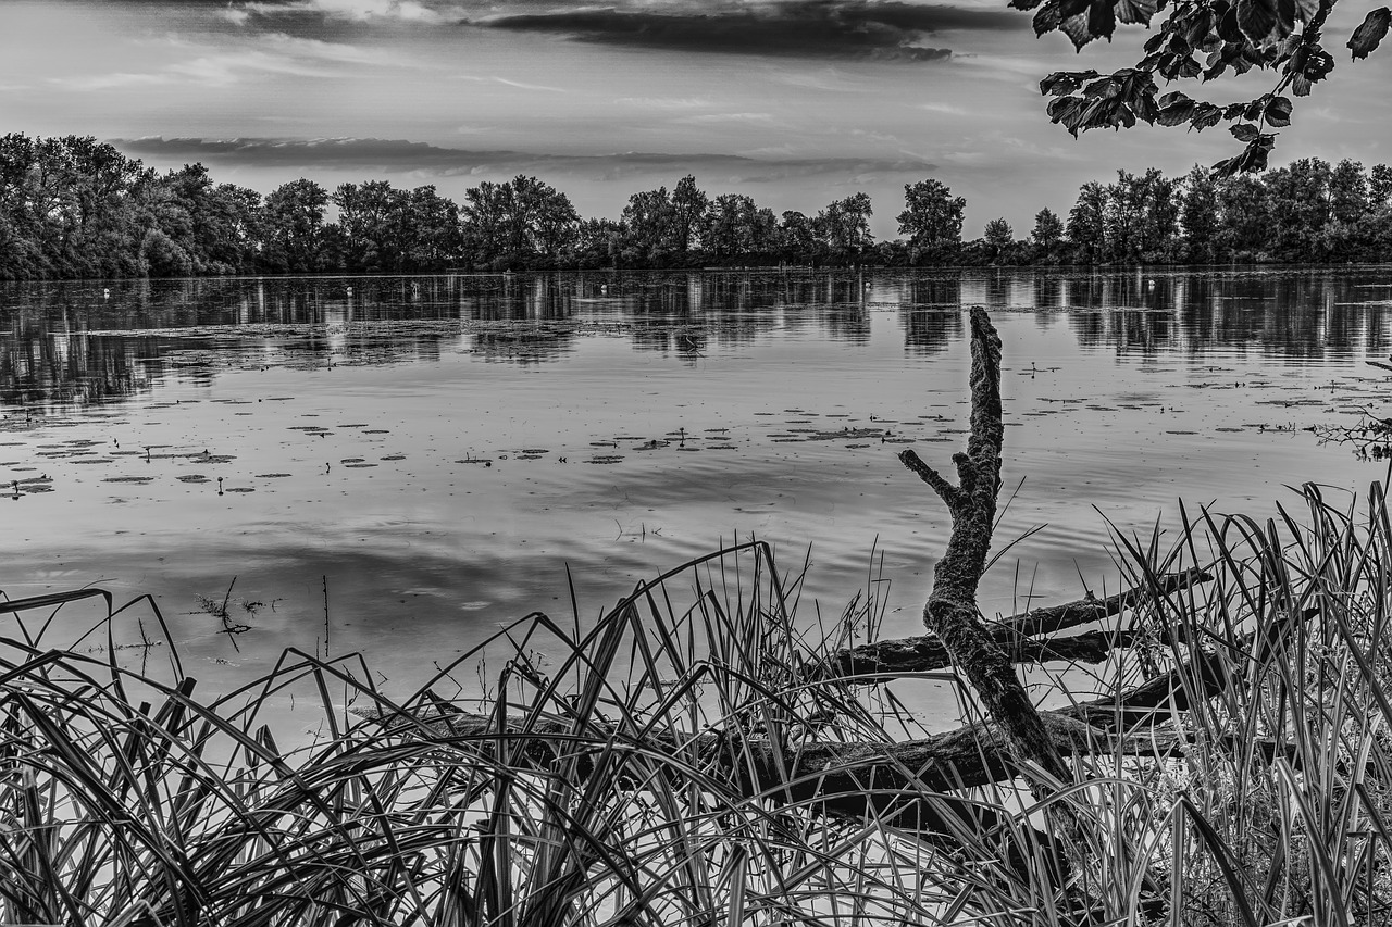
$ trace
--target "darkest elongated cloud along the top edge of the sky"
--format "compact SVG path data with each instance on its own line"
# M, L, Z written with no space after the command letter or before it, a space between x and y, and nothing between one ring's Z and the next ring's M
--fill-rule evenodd
M582 8L501 15L475 25L674 52L934 61L952 53L923 45L927 36L949 29L1025 29L1029 21L1004 11L942 6L789 0L682 13Z

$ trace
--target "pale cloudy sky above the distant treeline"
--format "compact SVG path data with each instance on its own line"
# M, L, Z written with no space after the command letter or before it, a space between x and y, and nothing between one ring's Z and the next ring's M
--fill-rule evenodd
M1331 18L1339 67L1275 163L1392 161L1392 53L1342 49L1361 14ZM935 177L967 198L967 235L1005 216L1023 237L1118 167L1236 153L1222 128L1075 141L1050 124L1041 77L1130 64L1144 36L1122 26L1075 54L1005 0L0 0L0 131L96 135L262 192L387 178L458 199L536 174L586 216L688 173L775 212L866 191L880 237L903 185ZM1272 84L1185 89L1226 102Z

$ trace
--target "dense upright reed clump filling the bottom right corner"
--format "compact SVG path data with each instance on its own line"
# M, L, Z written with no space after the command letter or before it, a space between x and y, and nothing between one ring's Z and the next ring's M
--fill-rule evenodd
M1303 489L1304 519L1186 515L1164 560L1123 544L1139 580L1219 568L1148 615L1190 704L1182 756L1134 775L1169 809L1172 923L1392 924L1392 523L1378 484L1327 493Z

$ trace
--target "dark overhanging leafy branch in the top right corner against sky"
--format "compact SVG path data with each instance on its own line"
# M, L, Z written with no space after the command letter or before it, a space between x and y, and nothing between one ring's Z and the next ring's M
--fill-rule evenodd
M1229 132L1243 150L1214 166L1224 177L1261 171L1275 145L1270 129L1290 125L1293 102L1308 96L1334 71L1334 57L1321 45L1325 21L1338 0L1011 0L1018 10L1036 10L1034 32L1063 32L1076 49L1093 39L1111 40L1118 22L1150 25L1157 10L1166 17L1146 42L1134 67L1109 75L1097 71L1058 71L1040 82L1054 97L1048 116L1075 136L1093 128L1130 128L1137 121L1187 125L1196 131L1232 122ZM1386 7L1371 10L1346 47L1364 58L1388 32ZM1194 100L1182 90L1157 99L1164 82L1212 81L1251 70L1279 74L1274 89L1251 100L1226 106Z

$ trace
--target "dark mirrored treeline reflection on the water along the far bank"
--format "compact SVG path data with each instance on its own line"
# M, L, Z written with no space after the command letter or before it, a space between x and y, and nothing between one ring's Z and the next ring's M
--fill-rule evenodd
M296 366L440 356L540 363L586 331L626 331L635 351L699 359L761 333L863 344L895 312L905 349L963 337L959 309L1038 313L1086 348L1148 355L1251 349L1318 359L1388 348L1392 284L1381 270L934 273L562 273L65 281L0 288L0 404L90 404L217 362ZM253 341L255 340L255 341ZM267 354L273 348L274 356ZM191 355L191 352L193 352ZM191 359L192 358L192 359ZM239 358L239 360L238 360Z

